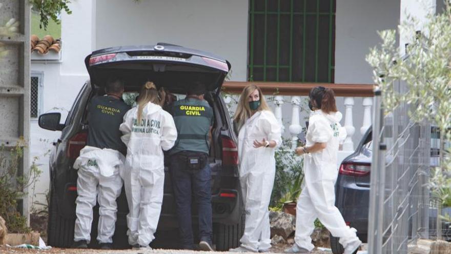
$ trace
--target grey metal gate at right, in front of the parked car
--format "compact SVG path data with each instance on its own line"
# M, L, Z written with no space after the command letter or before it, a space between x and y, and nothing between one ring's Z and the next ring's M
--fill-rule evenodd
M394 89L402 94L406 85ZM382 96L376 89L368 251L407 253L408 244L429 238L431 126L412 122L406 103L384 113Z

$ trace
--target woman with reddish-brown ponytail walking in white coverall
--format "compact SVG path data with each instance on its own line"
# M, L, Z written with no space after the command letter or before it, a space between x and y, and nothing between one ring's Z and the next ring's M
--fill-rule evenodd
M295 244L285 253L308 253L313 248L310 235L314 222L320 222L340 238L344 254L356 252L362 243L356 229L350 228L335 206L335 182L338 176L337 153L340 138L346 133L338 123L335 94L332 89L315 87L310 91L309 106L313 110L309 119L306 144L296 153L304 154L305 180L296 206Z

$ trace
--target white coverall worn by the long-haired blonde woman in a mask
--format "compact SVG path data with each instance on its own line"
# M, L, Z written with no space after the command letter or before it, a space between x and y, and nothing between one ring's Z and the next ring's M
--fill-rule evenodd
M262 110L251 116L238 134L239 176L246 211L241 246L254 251L271 248L268 206L274 185L275 148L254 148L253 142L263 139L282 143L281 126L273 112Z

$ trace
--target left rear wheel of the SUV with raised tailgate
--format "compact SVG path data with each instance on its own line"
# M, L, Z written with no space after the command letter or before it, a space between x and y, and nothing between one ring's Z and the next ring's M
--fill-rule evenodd
M49 221L47 224L47 245L70 247L74 241L74 219L66 219L58 213L58 200L54 188L50 191Z

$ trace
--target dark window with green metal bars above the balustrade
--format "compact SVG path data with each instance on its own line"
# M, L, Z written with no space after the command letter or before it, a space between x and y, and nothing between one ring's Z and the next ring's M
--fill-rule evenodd
M253 81L334 82L336 0L250 0Z

